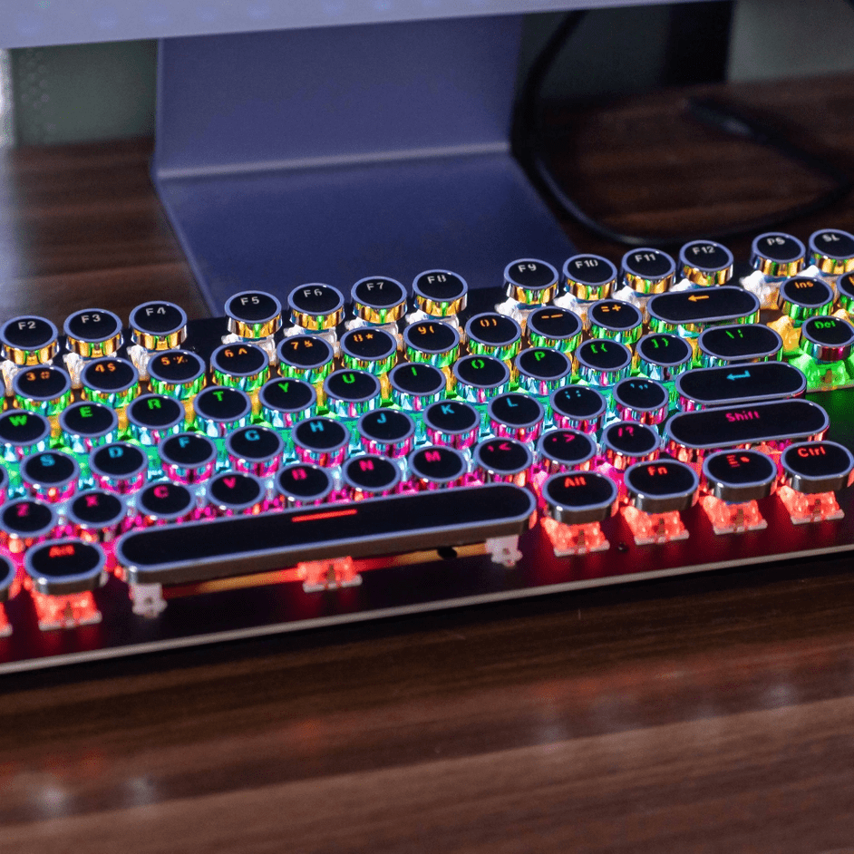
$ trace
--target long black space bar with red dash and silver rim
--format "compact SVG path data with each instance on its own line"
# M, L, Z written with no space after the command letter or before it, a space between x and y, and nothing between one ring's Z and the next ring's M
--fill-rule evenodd
M535 507L528 490L494 483L134 530L119 540L116 557L135 584L189 584L303 560L367 558L520 534Z

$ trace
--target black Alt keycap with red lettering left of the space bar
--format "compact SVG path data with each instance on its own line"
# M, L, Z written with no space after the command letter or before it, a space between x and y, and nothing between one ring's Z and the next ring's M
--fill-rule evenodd
M24 569L34 588L47 596L95 590L106 581L106 558L100 546L80 539L54 539L26 553Z

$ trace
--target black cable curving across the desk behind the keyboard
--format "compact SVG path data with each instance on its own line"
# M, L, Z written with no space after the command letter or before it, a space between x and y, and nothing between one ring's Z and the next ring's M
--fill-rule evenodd
M849 0L854 5L854 0ZM548 42L531 63L529 73L519 90L519 100L513 117L511 142L514 154L529 174L535 185L544 191L558 207L582 226L612 242L622 243L630 247L656 244L668 247L680 246L690 240L707 238L723 240L738 235L756 231L764 231L789 222L792 219L809 216L828 207L833 202L847 195L852 187L850 176L807 150L801 149L786 140L778 131L752 118L742 115L733 107L715 101L711 98L690 99L686 104L686 112L697 121L703 121L731 136L742 137L775 150L795 162L801 163L807 169L818 172L834 181L835 186L822 194L818 199L796 205L779 213L754 219L751 222L723 228L712 233L685 234L672 236L633 235L624 234L613 228L608 228L602 222L585 213L575 199L560 186L555 179L542 151L541 124L541 93L543 83L551 71L559 53L566 46L577 25L584 17L584 12L570 12L564 17Z

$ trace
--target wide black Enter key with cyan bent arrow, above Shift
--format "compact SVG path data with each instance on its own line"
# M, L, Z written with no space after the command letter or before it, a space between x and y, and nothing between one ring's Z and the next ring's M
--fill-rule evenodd
M698 368L676 377L679 406L686 412L745 401L799 397L806 388L806 377L785 362Z

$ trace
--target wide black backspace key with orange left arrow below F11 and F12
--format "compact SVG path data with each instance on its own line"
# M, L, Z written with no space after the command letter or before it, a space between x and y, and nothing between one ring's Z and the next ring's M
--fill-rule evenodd
M659 294L646 310L654 332L699 334L707 325L759 320L759 300L733 285Z

